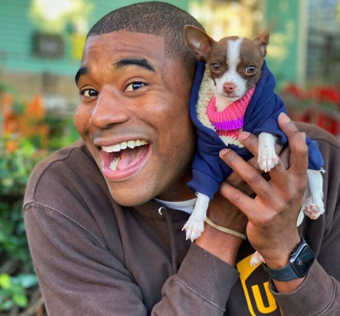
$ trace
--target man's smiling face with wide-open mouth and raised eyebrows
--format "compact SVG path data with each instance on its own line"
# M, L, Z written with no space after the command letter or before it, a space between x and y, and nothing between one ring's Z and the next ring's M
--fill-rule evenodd
M112 197L122 205L190 198L191 80L179 61L166 57L163 37L90 36L77 77L74 123Z

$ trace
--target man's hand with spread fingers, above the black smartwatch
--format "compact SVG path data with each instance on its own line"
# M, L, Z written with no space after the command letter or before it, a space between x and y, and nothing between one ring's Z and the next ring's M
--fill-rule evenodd
M227 182L221 185L220 192L248 217L248 239L272 268L285 266L290 252L300 242L296 220L306 190L308 167L304 135L288 116L280 115L278 122L289 141L289 167L286 169L279 159L278 165L269 172L269 182L233 150L220 153L221 159L249 184L256 197L247 196ZM257 137L243 132L239 140L257 156Z

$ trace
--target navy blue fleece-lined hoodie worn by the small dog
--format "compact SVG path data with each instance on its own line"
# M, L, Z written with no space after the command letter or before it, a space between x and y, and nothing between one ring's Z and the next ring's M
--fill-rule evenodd
M212 199L219 190L220 184L233 171L219 157L221 149L226 148L217 133L204 126L197 117L196 103L198 92L204 75L205 63L198 62L194 83L190 96L190 116L197 129L197 152L192 164L193 178L187 185L194 191L200 192ZM271 133L278 138L281 145L287 145L287 136L281 131L277 118L281 112L287 114L285 104L274 93L275 79L266 66L262 66L262 77L256 83L255 92L249 102L244 116L243 131L258 136L262 132ZM308 169L321 170L323 157L315 141L306 137L308 146ZM246 148L229 144L228 148L236 151L243 159L249 160L253 154Z

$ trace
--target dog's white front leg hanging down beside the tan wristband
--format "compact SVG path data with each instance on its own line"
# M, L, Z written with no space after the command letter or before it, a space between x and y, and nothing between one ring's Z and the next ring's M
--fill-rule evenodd
M187 239L194 241L200 237L204 231L204 220L209 205L209 197L202 193L197 193L197 201L187 223L183 226Z

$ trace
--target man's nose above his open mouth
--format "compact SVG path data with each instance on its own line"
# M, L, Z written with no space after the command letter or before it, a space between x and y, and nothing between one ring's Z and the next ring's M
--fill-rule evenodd
M124 104L118 100L114 93L102 91L92 111L89 123L98 128L105 129L113 124L126 122L129 119Z

